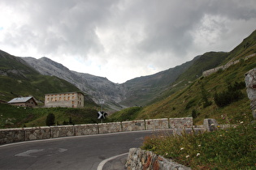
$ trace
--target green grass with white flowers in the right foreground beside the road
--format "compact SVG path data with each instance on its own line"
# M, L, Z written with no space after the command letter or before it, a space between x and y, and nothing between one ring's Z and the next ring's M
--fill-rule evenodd
M256 123L241 121L236 128L204 134L149 136L141 148L192 169L255 169Z

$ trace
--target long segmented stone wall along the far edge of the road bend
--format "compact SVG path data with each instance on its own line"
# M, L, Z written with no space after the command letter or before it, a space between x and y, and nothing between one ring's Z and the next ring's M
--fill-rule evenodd
M193 127L193 118L163 118L139 121L123 121L87 125L59 125L0 130L0 145L46 138L60 138L89 134L108 134L135 130L173 129L174 132ZM202 128L205 130L206 128Z

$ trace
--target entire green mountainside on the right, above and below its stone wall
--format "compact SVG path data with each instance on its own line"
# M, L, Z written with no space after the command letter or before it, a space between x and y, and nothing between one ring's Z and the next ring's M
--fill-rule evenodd
M248 46L246 46L248 45ZM222 94L235 84L245 82L245 73L256 67L256 31L249 37L245 38L240 45L237 45L229 53L205 53L203 60L198 59L174 84L178 84L184 79L189 79L190 73L196 73L198 66L205 66L204 63L209 54L219 56L220 60L216 60L215 66L223 66L229 61L239 60L240 62L228 67L226 70L219 70L215 74L210 74L207 77L198 77L190 83L186 83L170 92L176 86L171 86L167 91L163 91L163 99L158 100L136 112L136 117L131 113L134 119L151 119L160 117L195 117L194 123L202 124L204 118L215 118L221 123L237 123L241 118L246 118L251 121L251 110L249 99L247 97L245 86L241 88L239 99L232 101L230 104L219 107L215 104L215 94ZM249 57L248 59L246 57ZM215 61L215 60L214 60ZM210 63L212 66L212 62ZM193 69L194 68L194 69ZM202 68L202 67L198 67ZM210 68L210 67L209 67ZM195 75L195 74L192 74ZM183 88L182 88L183 87ZM230 100L228 101L230 102ZM135 108L132 108L135 109ZM128 112L128 111L126 111ZM116 113L119 117L123 117L122 113ZM125 113L124 113L125 114ZM125 115L126 116L126 115ZM115 117L115 114L111 115ZM127 117L127 116L126 116ZM127 119L131 120L131 119ZM121 120L124 121L124 120Z

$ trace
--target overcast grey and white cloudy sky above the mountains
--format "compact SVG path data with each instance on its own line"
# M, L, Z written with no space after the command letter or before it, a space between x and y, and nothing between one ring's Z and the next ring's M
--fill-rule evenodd
M124 83L256 29L255 0L0 0L0 49Z

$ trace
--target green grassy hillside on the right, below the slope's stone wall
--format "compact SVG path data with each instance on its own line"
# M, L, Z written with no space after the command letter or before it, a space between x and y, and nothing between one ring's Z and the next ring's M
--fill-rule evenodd
M249 99L246 96L245 89L243 100L232 103L224 108L219 108L215 105L213 96L215 91L220 92L226 89L227 83L234 81L244 81L244 74L256 67L256 58L251 58L248 61L230 67L228 70L212 74L203 79L197 79L189 87L177 92L173 96L167 97L156 104L145 107L137 119L143 118L159 118L159 117L191 117L192 110L195 109L199 116L195 122L202 124L202 120L207 117L216 118L220 123L226 121L221 115L227 115L229 118L239 118L241 113L250 113ZM209 100L212 101L209 107L203 108L202 100L202 84L209 94ZM189 107L189 104L191 105Z

